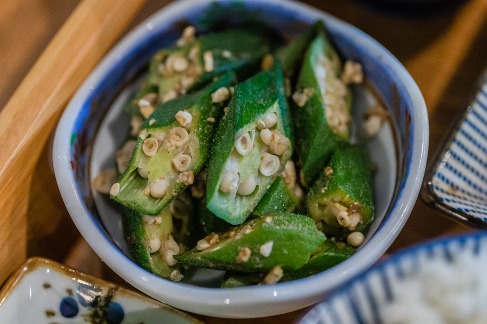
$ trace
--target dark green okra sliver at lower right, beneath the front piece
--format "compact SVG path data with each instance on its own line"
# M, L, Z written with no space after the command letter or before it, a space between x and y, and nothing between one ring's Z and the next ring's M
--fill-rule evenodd
M310 260L308 260L308 262L301 268L285 272L282 281L296 280L328 270L347 260L355 253L355 251L356 250L348 244L328 240L313 252Z

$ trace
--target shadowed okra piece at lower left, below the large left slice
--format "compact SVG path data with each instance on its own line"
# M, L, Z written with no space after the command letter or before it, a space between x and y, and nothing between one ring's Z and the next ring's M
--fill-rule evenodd
M182 269L174 255L192 246L193 212L193 203L186 193L181 193L157 216L125 208L124 235L135 263L155 275L179 281Z

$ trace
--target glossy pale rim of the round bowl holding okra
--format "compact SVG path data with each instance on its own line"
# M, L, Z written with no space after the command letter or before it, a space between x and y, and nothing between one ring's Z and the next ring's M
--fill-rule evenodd
M203 309L205 305L211 304L225 306L230 303L230 299L228 298L225 300L220 300L221 296L217 295L220 289L209 289L175 284L156 277L155 275L152 275L135 265L125 254L119 251L110 240L107 240L106 233L104 233L100 228L98 228L98 231L93 231L89 227L85 226L85 222L92 222L92 219L88 217L90 211L87 210L83 200L78 197L79 187L66 182L66 179L69 179L72 183L75 183L73 170L69 166L69 159L73 154L73 152L69 152L70 139L62 138L59 134L62 133L62 129L66 127L72 129L73 132L71 134L75 133L77 129L76 125L72 125L69 120L69 116L73 113L76 115L79 114L77 117L77 121L79 121L79 123L86 120L87 114L90 110L85 109L87 108L85 105L89 103L89 100L85 99L85 97L88 96L89 98L92 98L94 89L97 88L98 84L103 82L100 81L100 75L105 75L104 73L106 70L113 70L114 66L124 59L127 52L130 52L129 49L131 48L131 44L134 42L139 46L141 44L145 44L144 42L150 38L145 34L147 30L149 30L152 34L155 34L160 30L166 30L171 26L172 21L176 20L176 18L173 16L177 17L184 15L185 9L194 10L195 7L204 8L211 2L212 1L210 0L184 0L168 5L162 11L150 17L129 35L127 35L122 41L120 41L119 44L99 64L99 66L94 70L94 72L73 97L66 109L65 114L59 122L58 131L56 132L58 134L56 134L54 143L54 155L56 152L63 152L63 156L54 156L56 179L58 181L60 191L62 192L63 199L68 207L68 210L70 211L70 214L76 215L76 217L73 217L73 221L95 252L106 262L107 260L111 260L111 262L107 262L107 264L116 273L120 274L122 277L128 280L130 284L148 293L149 295L157 298L157 296L160 294L160 289L159 291L156 291L157 287L163 286L166 289L164 294L166 299L163 301L166 301L170 305L187 309L187 307L185 307L187 298L179 298L177 295L175 297L171 296L175 294L173 290L176 290L178 293L184 295L193 295L194 297L196 297L196 295L205 296L205 298L201 299L204 300L204 303L201 303L199 307L202 308L200 310L201 314L208 315L214 315L214 313L207 312L205 309ZM380 255L383 254L383 252L392 243L393 239L395 239L407 220L419 192L418 184L421 183L422 176L424 174L429 135L427 110L420 91L409 73L402 67L399 61L397 61L392 54L385 50L370 36L356 28L351 28L351 26L343 23L341 20L323 13L313 7L289 0L250 0L246 1L245 3L265 6L266 8L273 6L274 8L279 8L279 10L287 10L289 12L293 12L297 19L301 19L303 21L314 21L318 18L325 19L330 26L334 26L334 28L338 30L346 29L347 33L351 34L354 41L365 51L379 53L381 56L380 59L384 61L385 64L394 66L394 73L397 74L396 78L401 80L404 87L406 87L408 94L410 95L411 105L408 107L408 109L416 109L416 111L414 111L414 115L410 116L410 123L417 124L414 129L411 129L412 133L409 136L411 149L409 151L409 155L407 156L407 161L405 161L407 163L405 164L404 174L400 175L402 179L402 181L400 181L401 187L396 188L396 196L393 198L393 200L395 200L395 204L390 207L388 215L380 225L380 228L373 235L370 242L362 248L363 252L361 252L361 254L357 253L362 256L359 257L359 255L355 255L355 258L353 259L355 262L362 265L360 269L366 269L370 267L376 260L378 260ZM157 21L161 21L164 18L167 18L170 23L159 24L157 25L157 30L154 30L155 24L152 23L157 23ZM134 40L137 38L139 40ZM168 42L172 40L173 39L168 40ZM118 52L124 53L124 55L117 54ZM136 67L136 65L134 65L134 67ZM138 68L134 68L134 74L135 70L138 70ZM111 82L114 79L116 78L108 81ZM80 106L77 102L83 102L83 105ZM83 114L85 114L85 116L83 116ZM87 135L85 134L84 136ZM83 139L81 141L83 141ZM74 152L74 154L76 154L76 152ZM413 164L412 161L415 161L415 163ZM407 194L404 195L406 192ZM371 242L374 243L371 244ZM116 253L113 253L113 249L115 249ZM346 265L347 264L344 263L328 270L326 273L320 273L312 277L296 280L295 282L281 283L275 287L243 287L238 289L238 294L231 292L231 290L228 291L233 298L232 304L235 303L237 305L258 305L258 298L249 301L245 300L246 298L248 299L248 297L240 297L240 295L247 294L247 291L254 290L257 290L259 294L262 295L262 298L270 298L275 301L308 298L307 303L308 305L311 305L313 302L317 301L317 298L319 298L319 296L326 291L327 288L334 288L330 287L333 285L329 283L329 278L334 278L334 282L343 283L359 273L360 269L346 269L344 268ZM321 283L321 285L318 285L318 283ZM325 284L323 285L323 283ZM306 292L297 294L289 293L292 290L300 290L303 286L308 287ZM169 296L171 296L171 298L168 298ZM299 307L304 306L300 305ZM195 311L195 309L193 308L192 311Z

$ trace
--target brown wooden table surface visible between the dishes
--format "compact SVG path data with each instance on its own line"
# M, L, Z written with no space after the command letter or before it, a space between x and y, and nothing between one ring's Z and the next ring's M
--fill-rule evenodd
M149 0L127 28L171 1ZM430 118L429 158L467 103L487 62L487 0L441 2L435 6L391 6L388 1L305 1L355 25L394 54L416 80ZM0 2L0 107L3 107L78 0ZM126 31L126 32L127 32ZM127 285L89 248L69 218L49 162L49 145L37 161L29 186L27 256L45 256L86 273ZM0 183L2 186L2 183ZM46 211L49 219L46 221ZM48 222L48 224L46 224ZM472 231L418 199L388 253L451 233ZM5 267L0 255L0 270ZM2 280L0 280L0 285ZM292 323L305 310L257 320L232 322ZM198 316L207 323L229 320Z

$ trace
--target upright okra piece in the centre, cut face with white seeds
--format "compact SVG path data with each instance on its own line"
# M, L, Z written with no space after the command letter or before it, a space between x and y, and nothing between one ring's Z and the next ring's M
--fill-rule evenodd
M207 168L207 206L236 225L280 175L292 154L279 64L235 87Z

